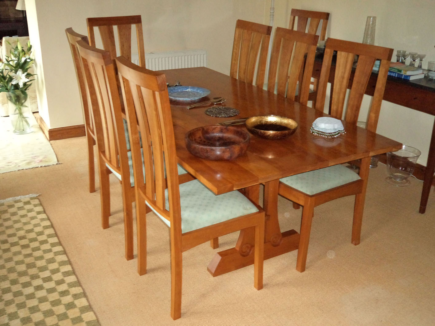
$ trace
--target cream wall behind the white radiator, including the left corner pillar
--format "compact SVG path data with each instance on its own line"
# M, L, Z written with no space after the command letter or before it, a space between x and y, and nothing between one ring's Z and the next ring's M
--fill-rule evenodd
M87 34L87 17L140 14L145 52L205 49L208 67L229 73L236 20L262 23L264 15L264 0L26 0L26 7L38 105L50 129L83 123L67 27Z

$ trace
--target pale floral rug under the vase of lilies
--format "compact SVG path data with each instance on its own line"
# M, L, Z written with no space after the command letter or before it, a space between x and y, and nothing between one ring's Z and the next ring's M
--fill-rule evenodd
M33 114L33 132L15 135L9 116L0 117L0 173L58 164L56 154Z

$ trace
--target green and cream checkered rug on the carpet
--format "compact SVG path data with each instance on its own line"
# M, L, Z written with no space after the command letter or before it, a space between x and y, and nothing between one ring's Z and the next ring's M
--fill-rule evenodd
M40 201L0 201L0 216L0 325L99 325Z

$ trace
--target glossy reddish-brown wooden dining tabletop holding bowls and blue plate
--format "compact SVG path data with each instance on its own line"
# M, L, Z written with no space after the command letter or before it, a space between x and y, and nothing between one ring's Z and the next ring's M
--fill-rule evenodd
M341 136L314 136L310 133L313 121L327 114L206 67L164 70L164 73L169 85L179 81L183 86L199 86L211 91L206 98L194 102L171 100L171 110L179 163L216 194L398 150L402 146L345 121L346 133ZM204 111L210 106L186 109L191 103L215 96L227 99L218 105L240 110L238 116L207 116ZM233 161L200 159L186 149L184 135L193 128L264 114L289 117L298 123L298 130L281 140L251 135L247 152ZM244 124L238 128L246 130Z

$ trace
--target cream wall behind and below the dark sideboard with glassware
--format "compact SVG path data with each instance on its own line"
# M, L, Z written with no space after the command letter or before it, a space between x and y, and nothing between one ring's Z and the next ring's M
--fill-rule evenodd
M269 21L271 0L265 1L264 20ZM426 53L423 68L435 60L433 0L275 0L274 27L288 27L291 8L330 13L326 37L361 42L367 16L376 16L375 45ZM365 120L370 98L365 99ZM428 103L434 105L434 103ZM434 116L383 101L377 132L422 151L418 163L426 165Z

